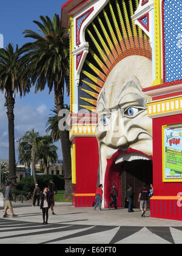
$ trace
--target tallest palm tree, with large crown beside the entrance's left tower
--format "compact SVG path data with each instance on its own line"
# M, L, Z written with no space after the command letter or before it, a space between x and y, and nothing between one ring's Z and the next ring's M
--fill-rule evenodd
M23 63L27 66L25 77L30 77L36 84L35 91L44 90L45 85L49 92L54 90L55 105L58 122L61 116L59 111L64 108L64 84L69 94L69 35L67 29L60 27L59 15L53 16L52 21L48 16L40 16L42 23L33 21L38 25L42 35L32 30L24 30L25 37L35 41L24 45L27 52L23 57ZM70 146L67 143L67 131L60 133L62 157L64 161L65 188L71 181L71 155Z

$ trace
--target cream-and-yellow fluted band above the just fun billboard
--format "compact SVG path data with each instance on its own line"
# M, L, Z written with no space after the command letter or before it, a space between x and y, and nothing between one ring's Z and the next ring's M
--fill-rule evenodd
M182 112L182 96L152 101L147 104L147 115L160 117L175 115Z

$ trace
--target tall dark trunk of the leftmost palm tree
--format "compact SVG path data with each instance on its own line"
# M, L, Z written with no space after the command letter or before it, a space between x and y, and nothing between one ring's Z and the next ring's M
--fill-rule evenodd
M8 140L9 140L9 179L16 183L16 165L15 165L15 125L14 112L15 98L13 98L13 91L7 90L5 97L5 105L7 106L8 117Z

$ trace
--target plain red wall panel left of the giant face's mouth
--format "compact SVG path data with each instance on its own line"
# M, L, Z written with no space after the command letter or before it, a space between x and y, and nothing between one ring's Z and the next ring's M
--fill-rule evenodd
M76 137L76 185L74 193L95 193L99 165L98 142L95 137Z

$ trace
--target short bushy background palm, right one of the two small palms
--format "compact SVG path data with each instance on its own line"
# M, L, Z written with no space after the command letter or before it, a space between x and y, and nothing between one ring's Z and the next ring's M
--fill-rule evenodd
M39 138L39 158L44 164L45 174L49 174L49 164L56 163L58 148L53 144L53 138L50 135L44 135Z

